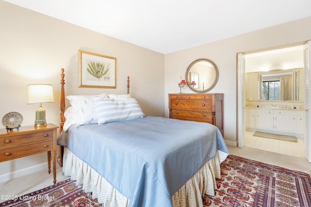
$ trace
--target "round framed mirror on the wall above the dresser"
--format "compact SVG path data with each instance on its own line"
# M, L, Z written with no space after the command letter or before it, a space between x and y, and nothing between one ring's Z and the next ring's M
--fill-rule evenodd
M192 91L206 93L216 85L218 68L208 59L193 61L186 71L186 82Z

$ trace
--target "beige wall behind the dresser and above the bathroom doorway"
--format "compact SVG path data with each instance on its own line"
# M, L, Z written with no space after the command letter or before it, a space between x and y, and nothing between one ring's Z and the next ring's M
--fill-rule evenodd
M224 137L226 143L237 139L237 61L236 54L264 48L302 44L311 40L311 17L249 32L217 42L165 55L165 116L169 117L168 95L178 93L180 76L185 79L189 64L199 58L212 60L219 69L219 80L209 93L224 93ZM192 91L186 87L183 93Z

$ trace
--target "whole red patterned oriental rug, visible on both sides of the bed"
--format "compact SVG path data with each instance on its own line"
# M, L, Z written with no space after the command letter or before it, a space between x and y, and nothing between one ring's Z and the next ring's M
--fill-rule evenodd
M215 196L203 197L204 207L311 207L310 175L229 155L221 164ZM5 201L0 207L101 207L92 193L75 181Z

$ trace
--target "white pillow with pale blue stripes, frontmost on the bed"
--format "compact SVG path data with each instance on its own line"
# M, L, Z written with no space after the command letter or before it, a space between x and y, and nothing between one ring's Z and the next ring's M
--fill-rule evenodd
M98 124L143 118L145 114L135 98L115 100L93 96L97 111Z

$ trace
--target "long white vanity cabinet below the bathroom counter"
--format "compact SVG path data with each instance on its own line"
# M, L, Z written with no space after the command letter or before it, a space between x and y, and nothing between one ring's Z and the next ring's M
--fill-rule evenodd
M246 109L246 128L285 133L304 133L304 112L282 109Z

